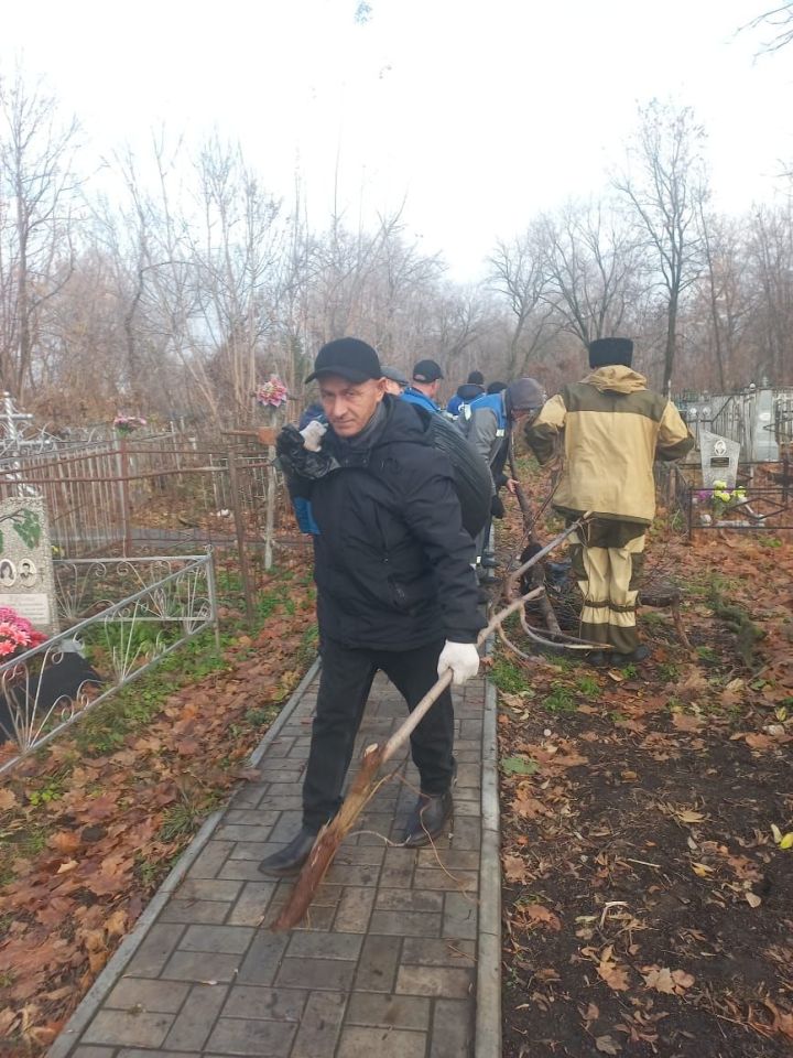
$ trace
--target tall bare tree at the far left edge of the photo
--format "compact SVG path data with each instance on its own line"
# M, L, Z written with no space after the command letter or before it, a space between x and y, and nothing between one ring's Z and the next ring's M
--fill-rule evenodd
M0 381L22 397L44 306L72 276L77 123L20 71L0 83Z

